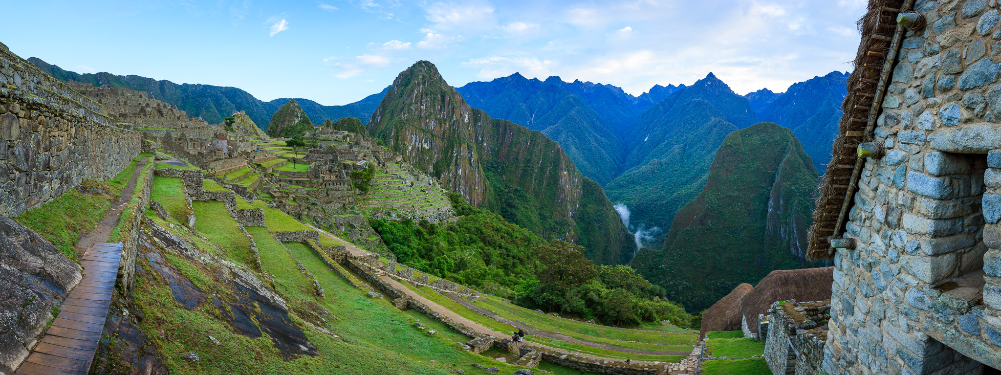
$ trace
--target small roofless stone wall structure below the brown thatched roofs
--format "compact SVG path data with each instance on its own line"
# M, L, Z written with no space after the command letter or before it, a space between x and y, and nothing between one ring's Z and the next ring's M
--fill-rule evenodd
M773 374L813 375L824 360L830 301L776 302L768 310L765 361Z

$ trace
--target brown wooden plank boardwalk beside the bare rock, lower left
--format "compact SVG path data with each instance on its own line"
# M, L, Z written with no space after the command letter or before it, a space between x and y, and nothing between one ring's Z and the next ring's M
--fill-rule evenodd
M121 243L97 243L83 254L83 280L15 375L86 375L111 305Z

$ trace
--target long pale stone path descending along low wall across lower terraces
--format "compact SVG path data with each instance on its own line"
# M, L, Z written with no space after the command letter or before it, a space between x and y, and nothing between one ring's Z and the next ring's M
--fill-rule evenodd
M313 230L315 230L320 235L326 236L327 238L330 238L332 240L340 242L351 253L351 255L364 256L364 255L371 254L368 251L362 250L362 249L358 248L357 246L351 245L350 242L344 241L344 240L340 239L339 237L334 236L334 235L332 235L330 233L327 233L326 231L324 231L322 229L316 228L316 227L314 227L312 225L309 225L309 224L305 224L305 225L308 226L309 228L312 228ZM466 327L469 327L469 328L475 330L476 332L479 332L479 333L482 333L482 334L485 334L485 335L494 336L496 338L506 338L506 337L510 337L511 336L511 333L497 332L497 331L495 331L493 329L490 329L490 328L487 328L487 327L485 327L485 326L483 326L483 325L481 325L479 323L473 322L473 321L469 320L468 318L465 318L465 317L463 317L461 315L458 315L456 312L451 311L451 310L449 310L449 309L445 308L444 306L441 306L441 305L439 305L437 303L434 303L434 301L431 301L431 300L429 300L427 298L424 298L424 296L421 296L420 294L417 294L416 292L410 290L407 286L403 285L402 283L400 283L399 281L397 281L397 280L395 280L395 279L393 279L391 277L383 275L383 276L381 276L381 278L382 278L382 280L385 280L390 285L396 287L397 289L399 289L403 293L406 293L410 297L413 297L413 299L418 300L420 302L423 302L431 310L434 310L435 312L438 312L438 313L440 313L440 314L442 314L444 316L447 316L449 319L454 320L455 322L461 323L461 324L465 325ZM462 302L464 302L464 301L462 301ZM461 303L461 302L459 302L459 303ZM466 303L468 303L468 302L466 302ZM509 324L511 324L511 323L509 323ZM528 328L528 327L525 327L524 325L522 327L523 328ZM539 330L533 329L533 331L532 331L532 334L538 334L540 336L546 336L546 337L560 338L561 340L566 340L566 339L561 338L561 337L567 337L567 336L563 336L563 335L559 335L559 334L553 334L553 333L549 333L549 332L546 332L546 333L555 335L555 337L554 336L542 335L542 334L540 334ZM567 337L567 338L570 339L570 340L567 340L567 341L572 341L573 340L574 342L581 343L581 344L584 344L584 345L589 345L589 346L600 347L600 346L597 346L597 345L603 345L603 344L595 344L595 343L591 343L591 342L587 342L587 341L577 340L577 339L574 339L572 337ZM540 344L540 343L536 343L536 342L533 342L531 344L534 345L534 346L542 347L542 348L553 350L553 351L560 351L559 349L556 349L556 348L553 348L553 347L550 347L550 346L547 346L547 345L543 345L543 344ZM624 351L623 348L619 348L619 347L616 347L613 350ZM566 350L562 350L562 351L566 351ZM638 350L638 352L643 352L643 351L642 350ZM582 356L582 357L593 359L593 360L609 361L609 362L623 362L622 358L609 358L609 357L602 357L602 356L585 354L585 353L580 353L580 352L575 352L575 353L578 354L578 355L580 355L580 356ZM691 356L691 353L689 353L689 352L678 352L678 353L674 353L674 352L650 352L650 353L667 354L667 355L689 355L689 356ZM632 361L632 363L635 363L635 364L644 364L644 365L651 365L651 366L666 366L667 369L668 369L668 373L669 374L689 374L690 371L691 371L691 369L692 369L692 367L689 366L689 363L688 363L689 361L688 360L689 360L689 358L685 358L685 359L682 360L682 363L667 363L667 362L655 362L655 361Z

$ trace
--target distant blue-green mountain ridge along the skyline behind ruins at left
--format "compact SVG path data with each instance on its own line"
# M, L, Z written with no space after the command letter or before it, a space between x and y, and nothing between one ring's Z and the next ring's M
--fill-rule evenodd
M274 112L293 99L274 99L264 102L250 93L235 87L201 84L176 84L167 80L156 80L137 75L114 75L107 72L79 74L46 63L37 57L28 59L39 69L63 81L90 83L94 86L111 85L129 90L145 91L158 100L177 106L190 116L201 117L210 124L218 124L236 111L246 111L247 116L258 125L267 124ZM346 105L325 106L312 100L295 98L306 114L315 121L338 120L356 117L368 121L372 111L378 106L385 90L372 94L357 102Z

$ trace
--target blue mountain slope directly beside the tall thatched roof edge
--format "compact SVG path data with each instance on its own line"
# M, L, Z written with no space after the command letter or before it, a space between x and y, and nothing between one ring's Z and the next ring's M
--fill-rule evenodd
M838 135L841 102L848 95L846 79L848 72L835 71L793 84L786 93L758 112L762 121L792 129L822 174L831 161L831 143Z

